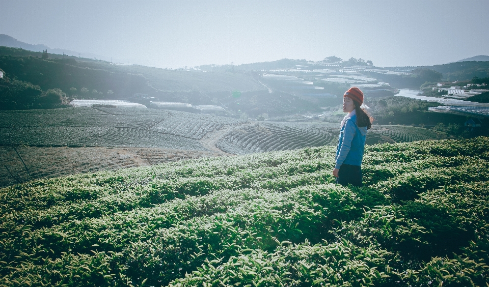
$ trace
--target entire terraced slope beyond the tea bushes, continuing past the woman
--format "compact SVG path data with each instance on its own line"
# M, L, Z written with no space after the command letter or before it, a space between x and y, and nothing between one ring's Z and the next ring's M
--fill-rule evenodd
M253 122L150 108L0 111L0 187L79 172L189 158L336 145L338 124ZM444 139L408 126L373 126L367 144Z

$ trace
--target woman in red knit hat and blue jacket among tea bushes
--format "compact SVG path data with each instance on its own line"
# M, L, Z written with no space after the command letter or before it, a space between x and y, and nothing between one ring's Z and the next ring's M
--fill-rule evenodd
M343 95L343 112L348 114L340 125L340 137L336 148L336 164L333 176L336 183L362 186L362 159L367 130L373 119L361 108L363 93L357 87L350 88Z

